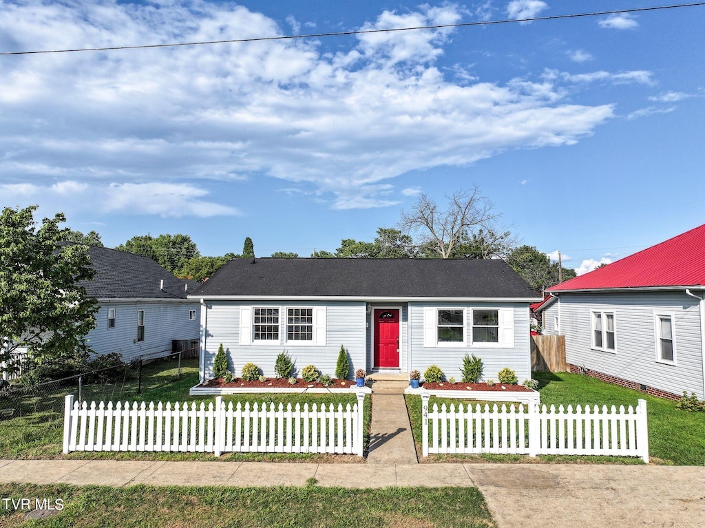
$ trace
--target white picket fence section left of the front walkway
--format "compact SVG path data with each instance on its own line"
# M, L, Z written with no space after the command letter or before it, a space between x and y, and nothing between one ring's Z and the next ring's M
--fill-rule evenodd
M214 453L348 453L363 455L364 393L355 405L294 407L223 402L75 402L66 396L63 453L182 451Z

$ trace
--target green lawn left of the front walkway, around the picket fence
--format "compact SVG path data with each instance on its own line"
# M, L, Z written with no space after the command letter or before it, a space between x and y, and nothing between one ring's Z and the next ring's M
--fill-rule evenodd
M83 387L82 397L85 400L128 400L130 402L212 402L214 396L190 396L188 390L198 383L198 361L184 360L181 362L181 377L178 378L178 364L173 360L157 361L146 364L142 369L142 393L137 393L136 376L124 382L115 384L96 384ZM212 453L116 453L116 452L85 452L62 455L63 443L63 396L73 393L72 388L63 388L49 395L56 400L55 408L60 410L57 416L49 412L35 413L31 416L17 417L0 422L0 458L73 458L73 459L111 459L111 460L249 460L249 461L286 461L286 462L362 462L353 455L318 455L305 453L229 453L216 458ZM329 405L338 403L353 405L355 394L240 394L226 396L228 401L243 403L269 403L277 407L283 403L292 406L296 403L317 403ZM58 407L56 406L58 405ZM372 421L372 399L364 399L364 428L367 434L364 438L365 450L369 444L369 425Z

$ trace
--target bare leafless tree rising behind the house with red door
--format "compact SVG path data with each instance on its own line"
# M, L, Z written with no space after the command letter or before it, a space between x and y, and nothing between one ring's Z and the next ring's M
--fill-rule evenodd
M402 211L399 223L407 235L417 235L419 247L441 259L452 258L464 236L471 236L481 228L494 228L499 216L477 185L469 191L455 191L446 198L448 205L441 209L433 198L422 193L410 211Z

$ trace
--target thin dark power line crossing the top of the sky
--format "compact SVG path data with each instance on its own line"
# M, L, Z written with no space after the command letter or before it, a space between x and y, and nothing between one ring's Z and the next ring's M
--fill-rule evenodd
M695 6L705 6L705 2L697 2L693 4L673 4L670 6L654 6L654 7L639 7L632 9L618 9L615 11L594 11L592 13L573 13L571 15L554 15L554 16L538 16L533 18L519 18L519 19L504 19L504 20L485 20L482 22L463 22L456 24L438 24L438 25L421 25L416 27L392 27L386 30L355 30L355 31L341 31L341 32L329 32L329 33L309 33L307 35L282 35L279 37L253 37L249 39L229 39L229 40L208 40L202 42L176 42L170 44L142 44L138 46L111 46L111 47L99 47L99 48L76 48L76 49L44 49L39 51L0 51L0 55L39 55L39 54L49 54L49 53L73 53L76 51L117 51L121 49L147 49L147 48L171 48L171 47L181 47L181 46L202 46L206 44L234 44L239 42L262 42L269 40L292 40L292 39L309 39L309 38L320 38L320 37L343 37L346 35L365 35L369 33L386 33L386 32L396 32L396 31L417 31L417 30L437 30L444 29L446 27L471 27L478 25L496 25L496 24L510 24L510 23L522 23L522 22L539 22L542 20L562 20L564 18L582 18L587 16L605 16L605 15L618 15L625 13L639 13L643 11L658 11L663 9L675 9L682 7L695 7Z

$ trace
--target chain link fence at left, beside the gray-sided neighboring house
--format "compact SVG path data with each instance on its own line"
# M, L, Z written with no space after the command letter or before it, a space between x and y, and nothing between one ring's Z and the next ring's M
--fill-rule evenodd
M176 379L181 378L181 357L185 352L167 356L140 357L114 367L92 370L63 379L20 386L4 383L0 387L0 429L15 427L61 427L63 425L63 400L73 394L76 400L133 400L142 392L145 366L150 372L165 362L165 369L173 369L176 362ZM17 381L17 380L15 380Z

